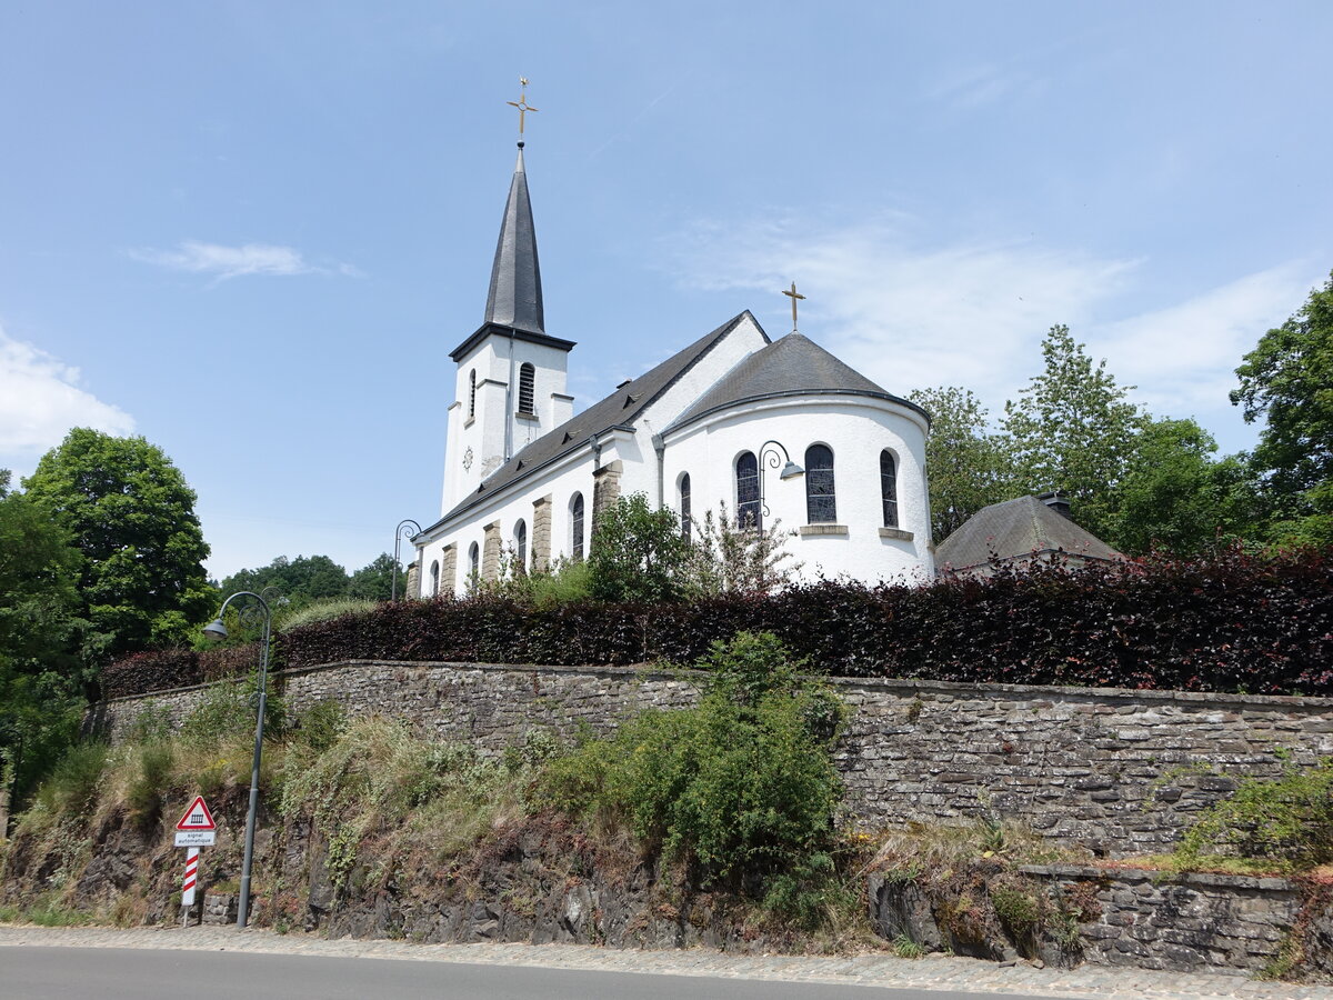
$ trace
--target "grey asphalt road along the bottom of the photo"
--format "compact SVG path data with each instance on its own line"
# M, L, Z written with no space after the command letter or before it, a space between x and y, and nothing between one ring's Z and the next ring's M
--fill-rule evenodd
M148 948L0 948L3 1000L972 1000L882 987ZM1006 1000L1038 1000L1006 995Z

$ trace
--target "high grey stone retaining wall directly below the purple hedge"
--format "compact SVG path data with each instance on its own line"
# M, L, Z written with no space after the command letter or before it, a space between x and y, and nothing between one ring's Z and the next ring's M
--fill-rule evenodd
M651 668L348 661L280 675L300 712L336 699L487 752L547 727L615 728L697 697L698 675ZM1333 699L1169 691L832 683L853 708L837 751L848 805L870 828L960 821L992 809L1100 856L1157 852L1245 776L1333 753ZM95 707L119 735L147 705L177 721L203 688Z

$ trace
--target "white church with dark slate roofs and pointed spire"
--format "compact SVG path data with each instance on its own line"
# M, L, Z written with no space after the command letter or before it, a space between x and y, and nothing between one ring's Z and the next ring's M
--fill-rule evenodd
M573 348L545 329L520 141L485 320L451 353L441 516L413 539L420 596L496 579L505 552L529 569L583 559L597 512L635 492L685 523L720 503L780 519L802 579L934 573L920 407L794 329L770 339L749 311L579 415Z

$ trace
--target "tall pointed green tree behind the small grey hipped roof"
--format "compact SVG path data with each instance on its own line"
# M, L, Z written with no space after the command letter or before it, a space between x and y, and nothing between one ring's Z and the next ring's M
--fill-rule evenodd
M1074 517L1094 535L1109 533L1114 489L1134 451L1144 413L1106 361L1093 365L1084 345L1056 325L1041 344L1041 375L1005 403L1004 431L1020 491L1062 491Z

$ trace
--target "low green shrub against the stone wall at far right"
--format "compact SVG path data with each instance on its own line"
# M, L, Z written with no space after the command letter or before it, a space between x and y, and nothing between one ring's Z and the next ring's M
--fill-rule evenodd
M1241 779L1185 832L1177 859L1234 853L1313 868L1333 861L1333 759L1288 764L1276 780Z

